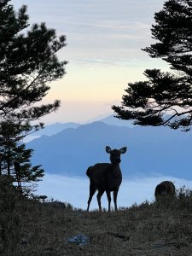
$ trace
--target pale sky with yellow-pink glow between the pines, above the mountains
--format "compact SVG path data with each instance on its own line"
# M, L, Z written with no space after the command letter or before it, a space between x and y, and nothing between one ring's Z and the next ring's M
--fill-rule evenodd
M44 117L55 122L86 122L113 113L127 84L145 79L147 68L167 70L165 61L151 59L143 48L154 43L150 28L162 0L11 0L18 10L27 6L29 23L45 22L67 37L58 52L68 61L67 74L50 84L44 102L61 100L56 113Z

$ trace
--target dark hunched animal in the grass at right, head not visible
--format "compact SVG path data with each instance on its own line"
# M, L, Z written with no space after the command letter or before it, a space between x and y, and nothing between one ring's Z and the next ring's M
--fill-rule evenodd
M156 201L165 196L174 197L175 195L175 185L171 181L163 181L154 190Z

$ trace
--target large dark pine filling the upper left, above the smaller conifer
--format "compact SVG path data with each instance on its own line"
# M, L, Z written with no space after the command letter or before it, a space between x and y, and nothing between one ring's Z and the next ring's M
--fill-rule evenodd
M45 23L28 23L26 6L16 13L10 0L0 1L0 120L29 122L55 111L60 102L35 106L61 79L66 61L56 53L66 38L55 35Z

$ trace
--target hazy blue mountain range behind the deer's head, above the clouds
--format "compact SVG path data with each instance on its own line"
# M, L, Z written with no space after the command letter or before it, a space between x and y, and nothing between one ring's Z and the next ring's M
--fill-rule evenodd
M32 164L42 164L45 172L84 177L88 166L109 162L106 145L127 146L121 162L124 177L162 174L192 178L189 133L166 127L129 128L103 122L75 125L27 143L28 148L34 149Z

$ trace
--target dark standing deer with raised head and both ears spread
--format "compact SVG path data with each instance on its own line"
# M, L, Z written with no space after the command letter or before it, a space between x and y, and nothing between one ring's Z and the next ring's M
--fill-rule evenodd
M122 173L120 171L119 163L120 154L125 154L126 147L120 149L111 149L106 146L106 152L110 154L111 163L97 163L95 166L90 166L87 169L86 175L90 178L90 197L88 200L87 212L90 209L90 201L96 190L98 190L97 202L99 211L102 211L101 198L104 192L108 197L108 212L111 211L111 192L113 191L113 202L115 211L117 208L117 195L119 186L122 182Z

